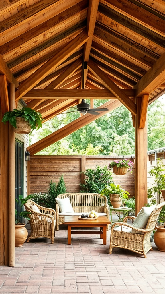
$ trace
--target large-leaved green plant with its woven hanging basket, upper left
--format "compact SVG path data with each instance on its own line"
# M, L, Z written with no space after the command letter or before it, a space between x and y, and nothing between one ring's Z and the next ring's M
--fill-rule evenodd
M14 109L13 111L5 112L2 122L6 122L13 126L14 132L18 134L28 134L30 131L37 130L41 127L42 117L41 113L29 107L22 109Z

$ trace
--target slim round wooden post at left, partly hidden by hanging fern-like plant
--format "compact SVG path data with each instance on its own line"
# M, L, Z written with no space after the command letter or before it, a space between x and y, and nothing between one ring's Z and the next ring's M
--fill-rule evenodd
M15 85L9 84L9 111L15 108ZM16 140L9 124L9 266L15 266L15 149Z

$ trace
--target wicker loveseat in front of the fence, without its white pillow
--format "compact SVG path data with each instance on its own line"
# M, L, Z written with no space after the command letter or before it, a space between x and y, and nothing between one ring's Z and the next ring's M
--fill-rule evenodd
M95 210L100 216L107 216L110 218L110 207L108 205L108 200L106 196L100 196L97 193L64 193L59 194L57 198L64 199L68 197L70 203L73 207L74 213L60 213L59 205L56 204L56 229L59 230L59 225L64 223L65 216L78 215L82 213L89 213ZM109 230L109 225L107 225L107 230Z

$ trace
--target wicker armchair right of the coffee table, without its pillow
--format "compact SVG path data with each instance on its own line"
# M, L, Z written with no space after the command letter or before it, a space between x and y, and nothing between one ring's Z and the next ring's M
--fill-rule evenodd
M112 248L119 247L134 251L139 254L144 254L146 258L146 254L149 250L152 250L152 245L150 242L151 232L154 230L156 221L159 217L159 213L161 212L161 208L165 205L165 202L160 203L154 208L151 212L147 225L144 229L139 229L141 233L132 233L127 232L129 228L135 229L133 225L128 224L127 220L134 220L135 216L126 216L123 219L123 222L117 222L112 225L111 228L111 237L110 237L110 254L112 254ZM116 225L124 225L124 230L115 230ZM126 228L127 227L127 228Z

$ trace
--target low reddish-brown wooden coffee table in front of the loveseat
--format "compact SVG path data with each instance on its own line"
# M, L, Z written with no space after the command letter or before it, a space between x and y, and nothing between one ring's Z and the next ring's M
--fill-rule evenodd
M99 216L93 220L79 220L78 216L65 216L65 224L68 225L68 244L71 244L71 234L100 234L103 245L107 243L107 225L110 220L106 216ZM95 228L100 231L73 231L72 228Z

